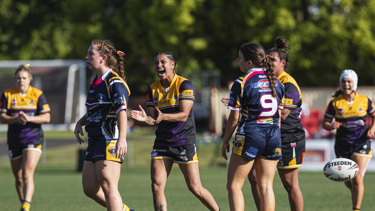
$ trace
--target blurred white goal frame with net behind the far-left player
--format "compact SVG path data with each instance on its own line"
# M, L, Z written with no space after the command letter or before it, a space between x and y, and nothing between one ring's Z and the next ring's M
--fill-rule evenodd
M30 64L31 85L41 89L51 107L51 123L43 130L74 130L86 113L86 68L84 60L0 61L0 92L14 87L14 72L20 64ZM55 115L55 116L54 116ZM0 130L7 130L1 124Z

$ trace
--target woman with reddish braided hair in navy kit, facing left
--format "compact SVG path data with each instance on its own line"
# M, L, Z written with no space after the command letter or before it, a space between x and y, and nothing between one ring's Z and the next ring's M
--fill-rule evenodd
M89 69L96 73L87 94L87 113L76 124L74 134L81 144L82 127L88 147L82 172L84 193L111 211L131 211L118 192L120 166L127 150L127 103L124 56L106 40L94 40L86 55Z

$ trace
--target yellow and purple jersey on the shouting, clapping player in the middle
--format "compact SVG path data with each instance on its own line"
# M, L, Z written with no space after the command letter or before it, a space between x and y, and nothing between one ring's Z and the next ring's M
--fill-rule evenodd
M159 81L155 81L148 87L147 107L158 108L162 113L180 112L180 102L183 100L194 101L193 84L174 74L169 88L163 89ZM156 146L182 146L195 143L195 121L193 109L185 122L161 121L155 131Z

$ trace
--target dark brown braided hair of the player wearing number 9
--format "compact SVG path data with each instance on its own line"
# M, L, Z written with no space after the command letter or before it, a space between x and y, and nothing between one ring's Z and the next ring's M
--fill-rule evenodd
M272 90L272 96L277 98L275 90L275 67L269 60L266 52L262 45L258 43L246 43L240 48L245 60L251 60L255 68L266 68L267 79L269 80L269 86Z

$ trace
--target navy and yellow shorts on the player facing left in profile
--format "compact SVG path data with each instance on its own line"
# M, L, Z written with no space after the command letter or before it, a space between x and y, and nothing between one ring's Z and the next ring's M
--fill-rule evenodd
M117 140L89 139L85 160L93 163L97 160L113 160L122 163L124 156L116 158L116 142Z

